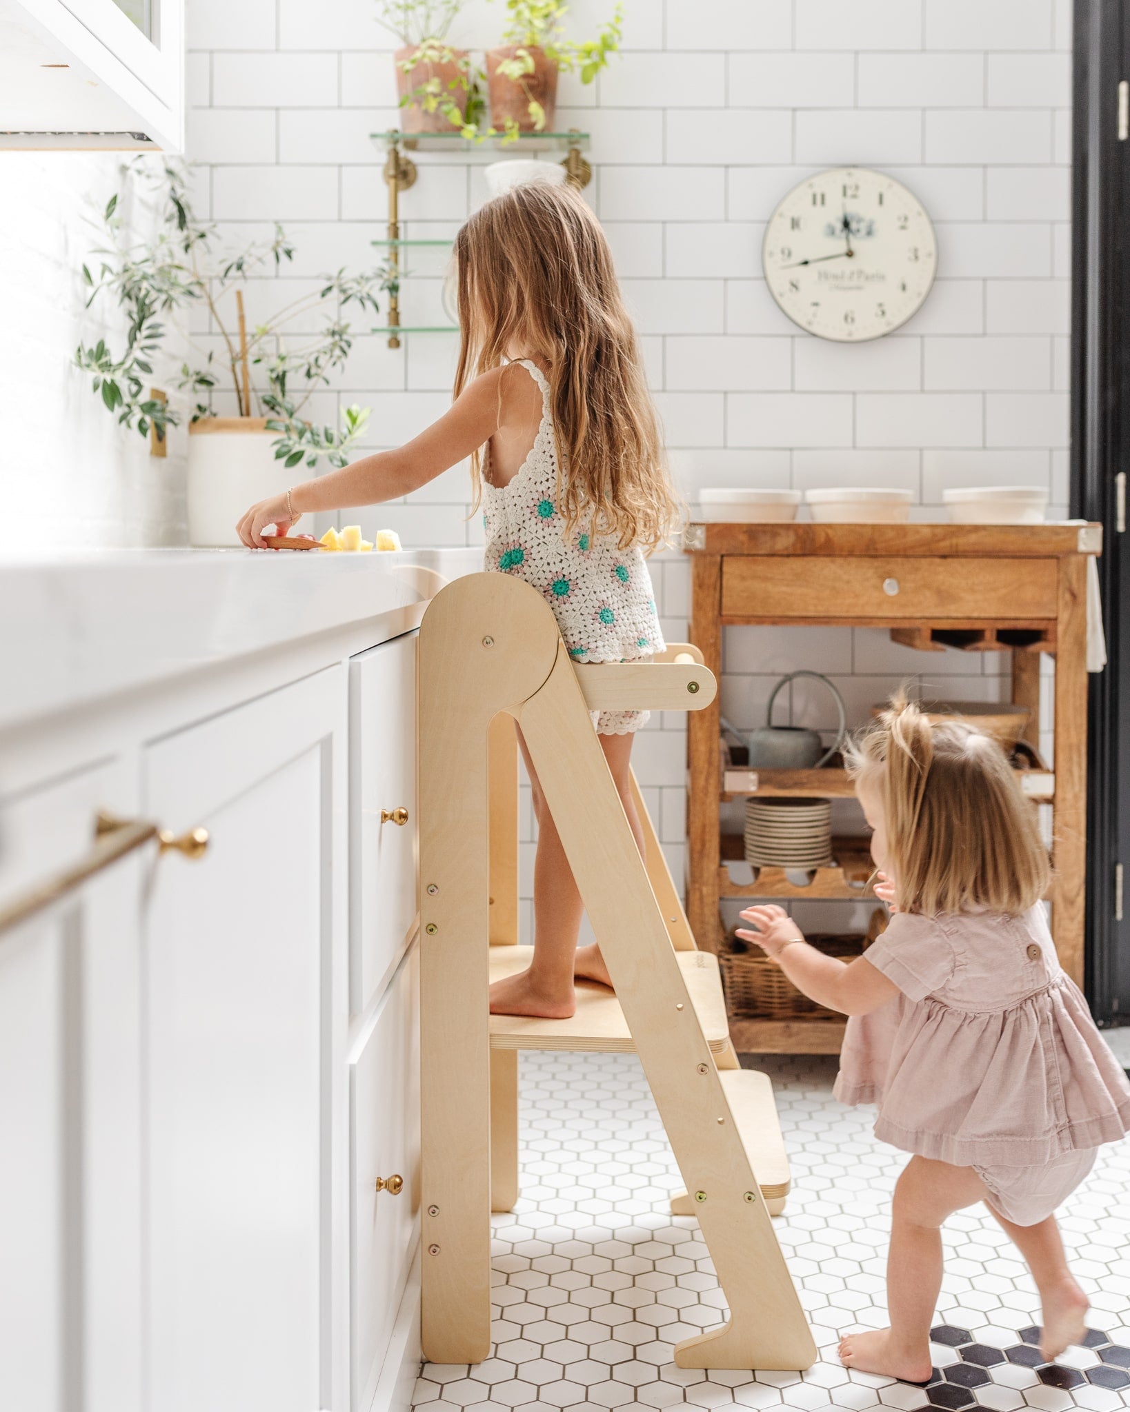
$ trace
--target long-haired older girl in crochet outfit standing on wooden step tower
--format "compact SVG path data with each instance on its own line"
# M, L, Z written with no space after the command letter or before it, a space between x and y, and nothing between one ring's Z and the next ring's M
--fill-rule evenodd
M240 538L261 548L268 525L287 534L311 511L396 500L470 457L484 568L545 596L573 661L662 651L644 552L662 542L678 503L600 226L571 188L517 186L466 222L455 258L462 345L451 411L398 450L251 505ZM629 760L647 716L593 713L641 850ZM609 976L596 946L576 946L581 894L528 754L525 764L538 819L534 959L492 986L490 1008L566 1018L573 976Z

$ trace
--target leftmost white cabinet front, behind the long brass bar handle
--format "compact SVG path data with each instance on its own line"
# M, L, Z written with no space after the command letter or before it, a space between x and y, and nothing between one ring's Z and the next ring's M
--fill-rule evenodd
M0 904L82 860L120 762L0 801ZM0 1401L140 1412L138 898L155 850L0 938Z

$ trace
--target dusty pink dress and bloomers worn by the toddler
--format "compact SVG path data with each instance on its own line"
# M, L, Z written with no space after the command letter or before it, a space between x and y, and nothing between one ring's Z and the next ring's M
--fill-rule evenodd
M849 1018L836 1097L877 1103L881 1141L972 1166L1007 1220L1044 1220L1130 1130L1130 1083L1044 908L896 912L864 955L901 994Z

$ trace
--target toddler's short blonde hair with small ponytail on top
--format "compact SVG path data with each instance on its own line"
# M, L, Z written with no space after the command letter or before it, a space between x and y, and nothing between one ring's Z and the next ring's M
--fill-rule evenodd
M846 755L852 777L880 792L904 912L1017 915L1044 897L1051 866L1035 806L992 736L931 722L898 692Z

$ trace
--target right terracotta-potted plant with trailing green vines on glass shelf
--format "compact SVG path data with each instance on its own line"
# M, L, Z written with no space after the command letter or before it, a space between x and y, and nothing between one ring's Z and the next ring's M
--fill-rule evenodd
M510 137L552 128L558 73L581 75L592 83L620 44L623 8L595 40L564 38L565 0L506 0L501 44L486 52L490 126Z

